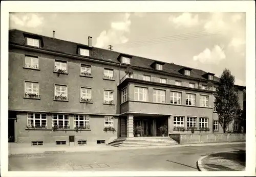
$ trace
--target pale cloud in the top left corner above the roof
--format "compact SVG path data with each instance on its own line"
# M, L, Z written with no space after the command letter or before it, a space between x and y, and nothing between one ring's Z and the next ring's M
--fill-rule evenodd
M43 24L44 17L33 13L24 15L10 14L10 20L18 27L37 28Z

